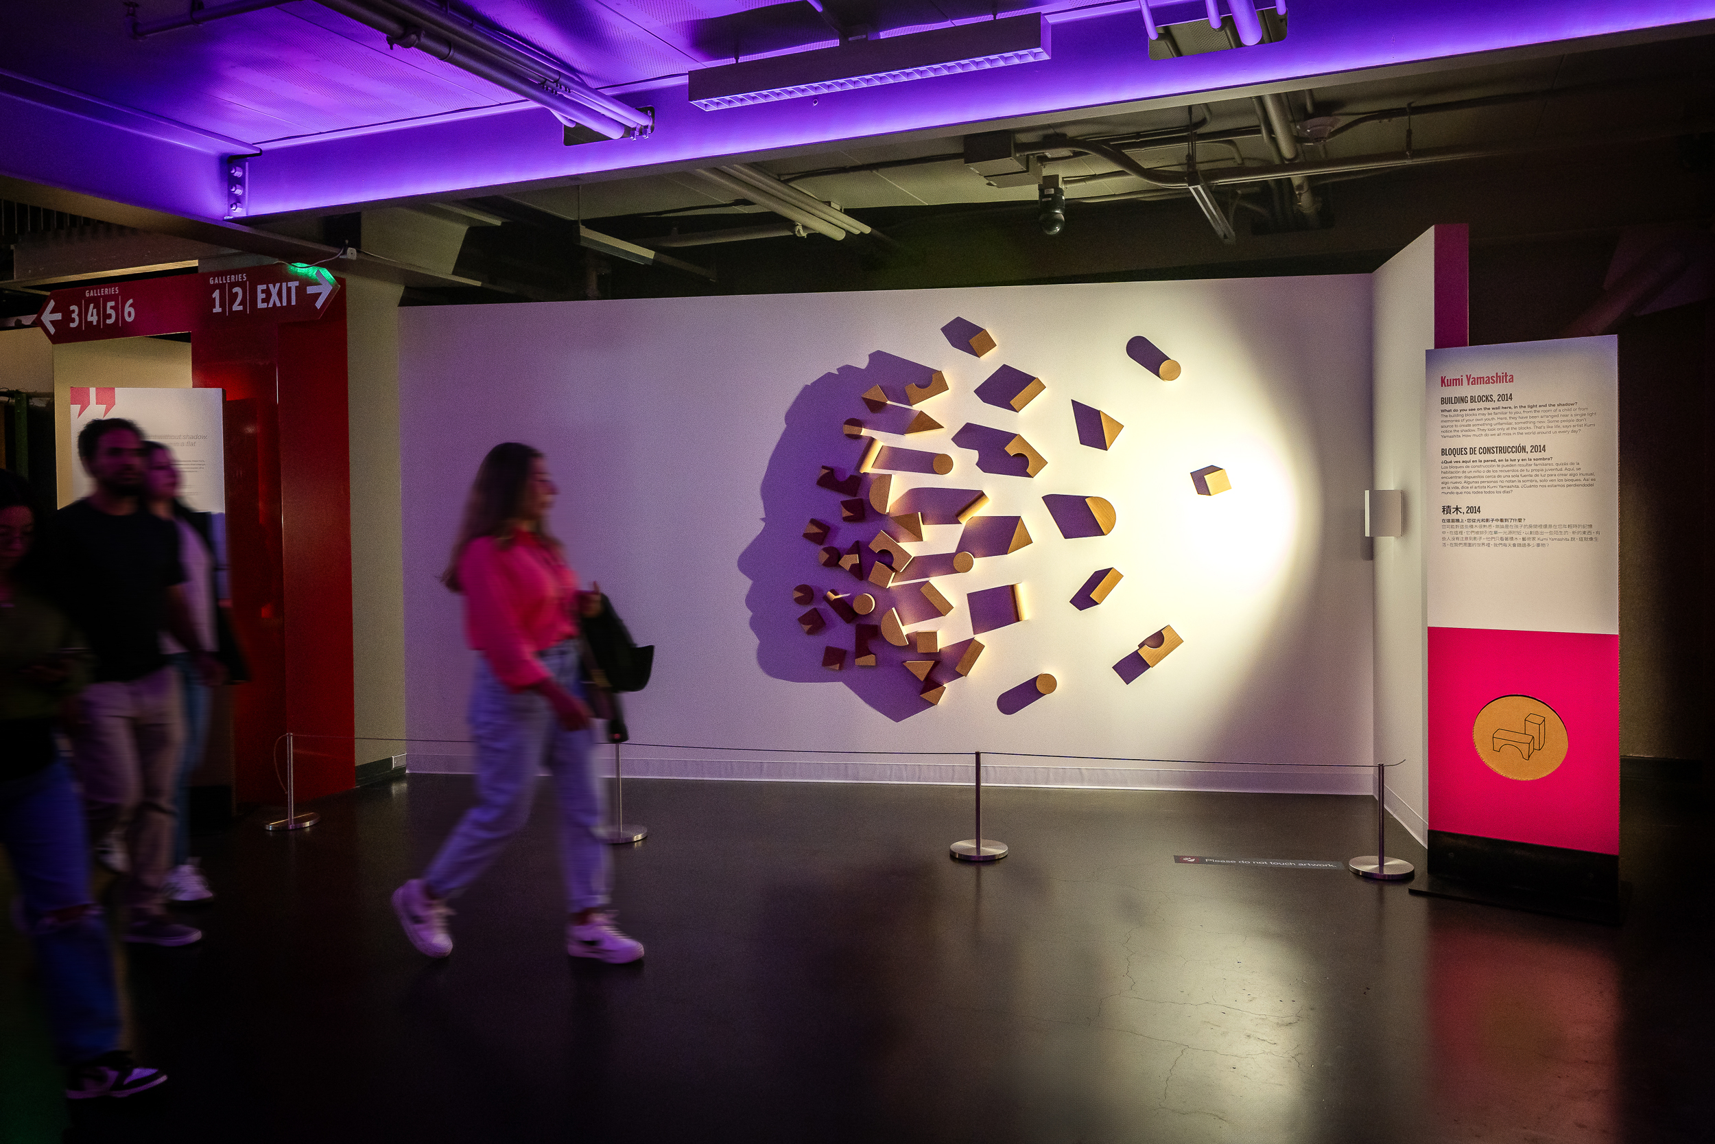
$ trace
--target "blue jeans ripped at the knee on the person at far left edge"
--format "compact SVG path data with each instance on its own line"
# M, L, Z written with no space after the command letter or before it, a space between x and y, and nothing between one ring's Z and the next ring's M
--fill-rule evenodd
M75 921L50 914L94 902L84 806L63 762L0 782L0 844L24 899L24 924L48 1003L53 1046L67 1063L118 1048L118 991L106 923L93 909Z

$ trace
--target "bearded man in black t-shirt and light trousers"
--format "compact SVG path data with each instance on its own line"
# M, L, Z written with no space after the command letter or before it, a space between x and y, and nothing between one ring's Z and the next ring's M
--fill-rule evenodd
M202 933L172 921L161 899L184 727L178 679L159 633L170 631L211 684L223 671L197 638L180 588L178 532L141 506L142 432L120 417L89 422L77 434L77 456L96 487L55 515L38 552L43 583L94 653L94 683L81 696L72 731L72 765L84 787L89 837L123 832L125 940L189 945Z

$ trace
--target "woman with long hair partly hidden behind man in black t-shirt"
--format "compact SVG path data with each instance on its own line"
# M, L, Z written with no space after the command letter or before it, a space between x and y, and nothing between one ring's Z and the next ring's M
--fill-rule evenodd
M173 451L159 441L144 441L144 503L149 513L170 521L178 532L178 563L185 569L185 602L201 645L214 652L226 672L226 683L247 677L238 643L220 599L221 561L214 544L214 515L190 509L180 497L182 477ZM161 652L178 676L178 713L184 746L178 751L173 806L178 825L173 830L172 870L161 892L168 902L206 902L214 897L202 864L190 854L190 775L202 765L209 736L209 701L213 688L202 683L196 659L173 638L161 633Z

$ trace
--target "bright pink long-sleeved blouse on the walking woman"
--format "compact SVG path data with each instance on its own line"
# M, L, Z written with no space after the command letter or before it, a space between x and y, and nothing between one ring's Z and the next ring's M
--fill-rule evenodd
M501 547L477 537L458 557L465 592L465 640L482 652L496 679L523 691L549 677L537 652L578 635L578 576L554 549L527 530Z

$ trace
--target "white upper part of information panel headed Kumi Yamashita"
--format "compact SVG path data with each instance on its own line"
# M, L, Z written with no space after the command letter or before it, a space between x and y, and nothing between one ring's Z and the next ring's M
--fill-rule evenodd
M1619 633L1617 340L1429 352L1430 628Z

